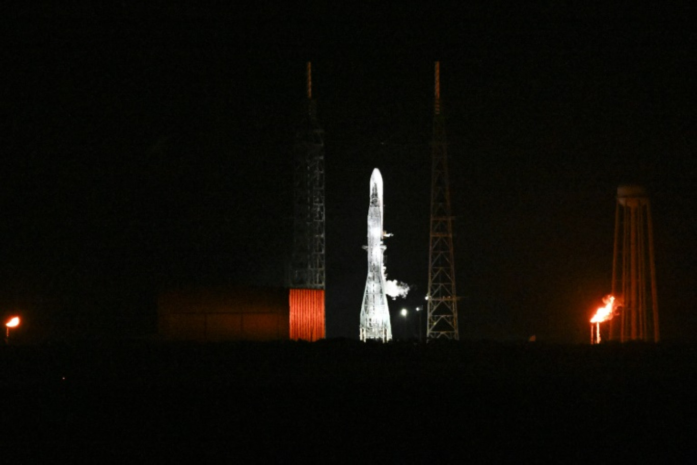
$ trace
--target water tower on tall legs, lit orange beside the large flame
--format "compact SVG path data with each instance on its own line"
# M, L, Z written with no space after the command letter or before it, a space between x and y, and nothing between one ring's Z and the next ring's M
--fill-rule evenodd
M640 186L622 185L617 190L612 274L619 315L610 320L610 338L658 342L651 206Z

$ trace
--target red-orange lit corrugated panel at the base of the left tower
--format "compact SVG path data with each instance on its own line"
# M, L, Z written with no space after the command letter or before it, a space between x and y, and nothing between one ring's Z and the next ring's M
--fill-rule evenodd
M291 339L316 341L324 338L324 290L291 289Z

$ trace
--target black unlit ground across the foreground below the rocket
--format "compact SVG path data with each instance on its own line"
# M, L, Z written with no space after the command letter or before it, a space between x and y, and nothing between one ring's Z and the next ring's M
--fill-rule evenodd
M0 449L63 463L675 463L696 450L696 378L695 346L666 344L3 346Z

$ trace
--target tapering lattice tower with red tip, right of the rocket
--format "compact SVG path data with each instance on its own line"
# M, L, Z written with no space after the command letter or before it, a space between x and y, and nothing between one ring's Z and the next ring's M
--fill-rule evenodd
M436 61L434 136L431 142L431 240L427 337L459 340L457 293L452 250L450 185L447 176L445 121L441 113L440 62Z

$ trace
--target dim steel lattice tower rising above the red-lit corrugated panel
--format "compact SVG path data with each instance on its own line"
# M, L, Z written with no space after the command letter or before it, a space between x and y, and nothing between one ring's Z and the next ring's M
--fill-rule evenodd
M307 106L296 132L293 157L293 252L290 285L324 289L324 131L312 98L312 68L307 63Z

